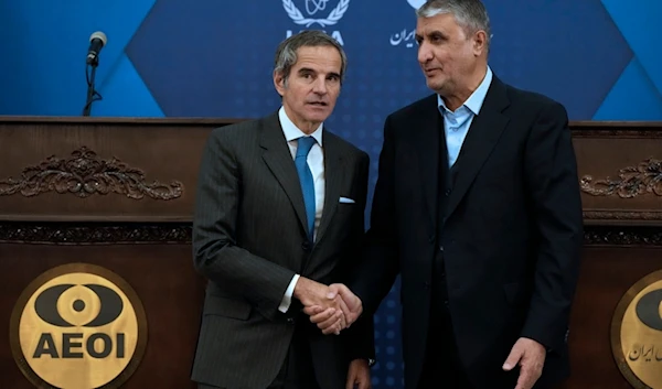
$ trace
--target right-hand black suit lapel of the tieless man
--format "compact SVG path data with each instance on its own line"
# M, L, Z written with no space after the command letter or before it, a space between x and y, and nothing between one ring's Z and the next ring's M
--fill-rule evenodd
M480 114L473 118L456 162L459 164L458 174L448 198L447 217L453 213L471 186L505 129L510 119L502 111L509 104L505 85L493 76Z

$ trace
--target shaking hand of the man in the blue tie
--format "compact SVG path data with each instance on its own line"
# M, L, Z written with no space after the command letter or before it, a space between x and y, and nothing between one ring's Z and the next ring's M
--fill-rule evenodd
M350 313L350 310L335 290L323 283L300 277L292 295L303 304L303 312L308 315L311 314L310 312L323 315L324 318L318 323L318 327L322 329L324 335L338 335L346 328L345 312Z

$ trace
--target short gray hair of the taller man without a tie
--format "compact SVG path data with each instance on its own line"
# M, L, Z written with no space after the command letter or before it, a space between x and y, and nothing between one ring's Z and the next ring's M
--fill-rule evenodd
M490 47L490 17L480 0L428 0L418 10L418 18L433 18L441 13L450 13L458 24L465 29L467 36L482 30L487 35L487 47Z

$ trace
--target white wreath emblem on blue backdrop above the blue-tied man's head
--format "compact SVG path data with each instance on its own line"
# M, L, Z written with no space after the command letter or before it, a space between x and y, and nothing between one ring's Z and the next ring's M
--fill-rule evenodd
M329 6L329 0L300 0L300 2L302 2L301 9L306 11L306 14L297 7L295 0L282 0L282 8L292 22L307 29L313 25L319 25L322 29L328 25L334 25L342 19L350 7L350 0L338 0L334 8ZM323 17L324 13L327 13L327 17ZM291 35L292 31L287 30L286 36L289 37ZM340 31L331 32L331 36L341 45L344 45Z

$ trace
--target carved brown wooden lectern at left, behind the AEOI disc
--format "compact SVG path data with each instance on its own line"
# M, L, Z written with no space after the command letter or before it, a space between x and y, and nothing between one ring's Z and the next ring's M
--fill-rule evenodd
M0 388L33 388L10 347L17 299L42 272L99 264L126 280L149 335L122 388L190 380L204 280L191 219L201 151L231 120L0 118Z

